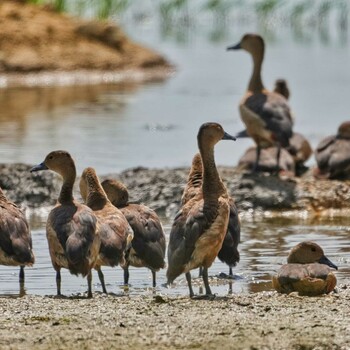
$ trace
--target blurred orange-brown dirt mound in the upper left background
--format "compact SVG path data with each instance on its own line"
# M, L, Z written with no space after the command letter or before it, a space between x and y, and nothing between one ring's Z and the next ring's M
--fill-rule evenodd
M0 73L169 67L115 24L86 21L48 7L0 2Z

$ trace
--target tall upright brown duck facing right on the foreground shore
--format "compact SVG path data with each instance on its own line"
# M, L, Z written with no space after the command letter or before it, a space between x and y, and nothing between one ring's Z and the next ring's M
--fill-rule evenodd
M194 296L190 270L203 267L206 296L212 297L208 268L218 255L227 233L230 198L220 179L214 159L214 146L220 140L235 140L217 123L199 128L198 147L203 163L200 191L185 203L174 219L168 245L168 284L186 274L190 297Z

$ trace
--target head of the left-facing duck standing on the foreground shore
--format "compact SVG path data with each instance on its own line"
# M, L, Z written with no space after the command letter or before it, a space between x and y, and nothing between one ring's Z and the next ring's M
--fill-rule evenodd
M40 170L52 170L64 177L67 172L75 173L75 165L73 158L67 151L53 151L50 152L45 160L30 169L30 172Z

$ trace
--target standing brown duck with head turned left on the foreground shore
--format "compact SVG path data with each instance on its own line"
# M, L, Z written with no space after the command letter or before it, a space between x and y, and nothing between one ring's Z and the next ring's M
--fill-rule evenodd
M88 297L92 297L92 274L100 250L97 219L93 211L73 198L76 178L74 160L66 151L53 151L30 171L52 170L63 178L58 202L46 223L51 262L56 270L57 295L61 295L61 268L87 276Z

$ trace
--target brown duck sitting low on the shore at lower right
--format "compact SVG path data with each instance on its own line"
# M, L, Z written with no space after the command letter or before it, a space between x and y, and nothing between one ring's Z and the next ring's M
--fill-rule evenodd
M272 279L273 287L280 293L328 294L337 284L333 271L338 267L314 242L299 243L290 251L287 262Z

